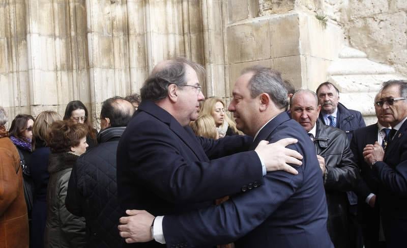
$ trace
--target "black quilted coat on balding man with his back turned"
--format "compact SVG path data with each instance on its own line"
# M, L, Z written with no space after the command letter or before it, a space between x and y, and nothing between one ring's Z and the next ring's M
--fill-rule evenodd
M104 129L99 145L82 155L68 184L67 209L86 219L86 247L121 247L116 151L125 127Z

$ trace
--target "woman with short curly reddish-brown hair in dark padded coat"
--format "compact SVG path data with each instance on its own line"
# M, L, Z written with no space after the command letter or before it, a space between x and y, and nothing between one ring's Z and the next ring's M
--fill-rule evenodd
M72 167L88 147L86 134L88 127L83 123L55 121L50 126L45 247L80 248L86 244L84 218L71 214L65 206Z

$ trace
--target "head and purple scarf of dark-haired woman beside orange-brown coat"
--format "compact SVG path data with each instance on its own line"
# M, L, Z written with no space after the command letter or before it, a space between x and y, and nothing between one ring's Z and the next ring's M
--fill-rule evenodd
M10 140L24 155L25 164L30 164L33 124L34 117L31 115L17 115L9 129Z

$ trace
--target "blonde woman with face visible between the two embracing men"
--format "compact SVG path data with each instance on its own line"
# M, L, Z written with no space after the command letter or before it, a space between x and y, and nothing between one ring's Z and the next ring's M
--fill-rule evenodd
M225 108L226 104L222 99L210 97L203 102L199 112L199 115L211 115L215 119L215 125L221 137L238 134L236 123L226 115Z

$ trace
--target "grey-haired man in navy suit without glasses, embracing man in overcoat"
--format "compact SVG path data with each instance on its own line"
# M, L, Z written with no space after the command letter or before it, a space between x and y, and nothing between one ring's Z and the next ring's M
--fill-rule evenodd
M236 247L333 247L326 228L327 206L315 149L304 129L286 114L286 104L287 91L280 73L255 66L237 79L228 109L234 113L237 128L254 137L250 150L264 140L298 139L289 146L303 155L302 166L293 165L298 175L273 171L264 177L264 185L249 184L250 192L235 194L221 205L165 215L158 224L160 233L155 231L155 222L153 232L150 230L153 215L132 210L132 216L120 219L123 225L119 230L126 242L154 238L164 240L168 247L235 240Z

